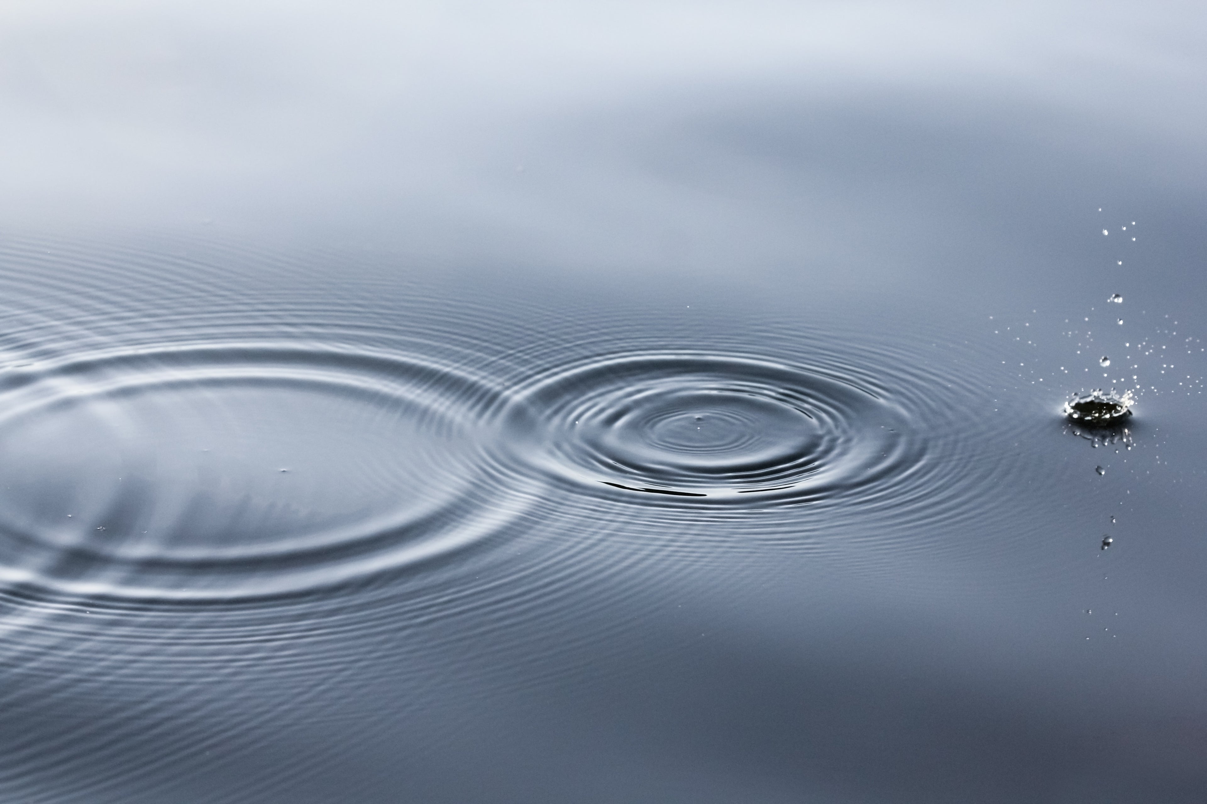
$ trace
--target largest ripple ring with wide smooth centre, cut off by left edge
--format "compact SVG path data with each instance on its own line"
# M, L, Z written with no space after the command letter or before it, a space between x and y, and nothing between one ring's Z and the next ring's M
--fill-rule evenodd
M199 346L0 372L0 576L62 593L308 592L448 556L517 512L500 394L390 354Z

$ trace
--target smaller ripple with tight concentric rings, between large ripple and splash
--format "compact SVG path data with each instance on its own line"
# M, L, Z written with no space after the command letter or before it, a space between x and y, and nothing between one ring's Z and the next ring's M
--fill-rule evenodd
M899 405L849 378L742 357L643 353L520 389L512 447L555 482L645 503L804 503L888 483L925 444Z

